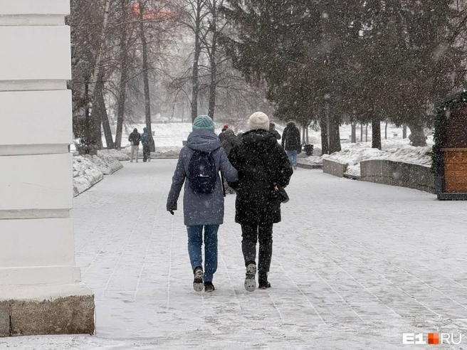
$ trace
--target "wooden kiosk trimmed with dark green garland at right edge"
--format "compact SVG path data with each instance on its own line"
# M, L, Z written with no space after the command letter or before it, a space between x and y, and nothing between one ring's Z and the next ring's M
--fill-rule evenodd
M433 165L441 201L467 200L467 90L436 106Z

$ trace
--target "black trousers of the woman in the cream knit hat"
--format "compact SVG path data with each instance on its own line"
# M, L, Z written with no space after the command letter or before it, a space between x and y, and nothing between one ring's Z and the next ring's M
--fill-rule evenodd
M241 224L241 250L245 266L256 264L256 243L259 240L258 271L269 272L273 257L273 224Z

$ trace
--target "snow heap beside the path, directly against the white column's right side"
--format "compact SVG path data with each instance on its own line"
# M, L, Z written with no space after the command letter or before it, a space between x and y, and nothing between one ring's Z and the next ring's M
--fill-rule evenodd
M83 156L73 157L73 196L90 189L102 179L103 172L90 159Z

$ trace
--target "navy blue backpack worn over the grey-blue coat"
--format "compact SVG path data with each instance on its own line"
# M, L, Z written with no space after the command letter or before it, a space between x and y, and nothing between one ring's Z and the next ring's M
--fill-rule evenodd
M212 193L216 187L216 162L211 152L193 150L188 164L188 179L194 193Z

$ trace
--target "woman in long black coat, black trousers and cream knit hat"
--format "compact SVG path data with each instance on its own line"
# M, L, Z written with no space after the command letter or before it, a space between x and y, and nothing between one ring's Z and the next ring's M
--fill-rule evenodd
M271 287L268 272L273 254L273 224L280 222L280 202L275 186L287 186L293 174L283 147L269 132L269 118L256 112L249 119L250 131L232 149L229 159L238 170L236 223L241 224L242 251L246 266L245 289L256 289L256 242L259 240L258 285Z

